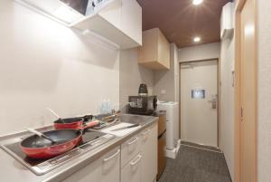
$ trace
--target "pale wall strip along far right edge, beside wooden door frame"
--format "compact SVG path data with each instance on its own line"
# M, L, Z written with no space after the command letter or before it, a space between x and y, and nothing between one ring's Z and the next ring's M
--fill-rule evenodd
M258 0L258 182L271 181L271 1Z

